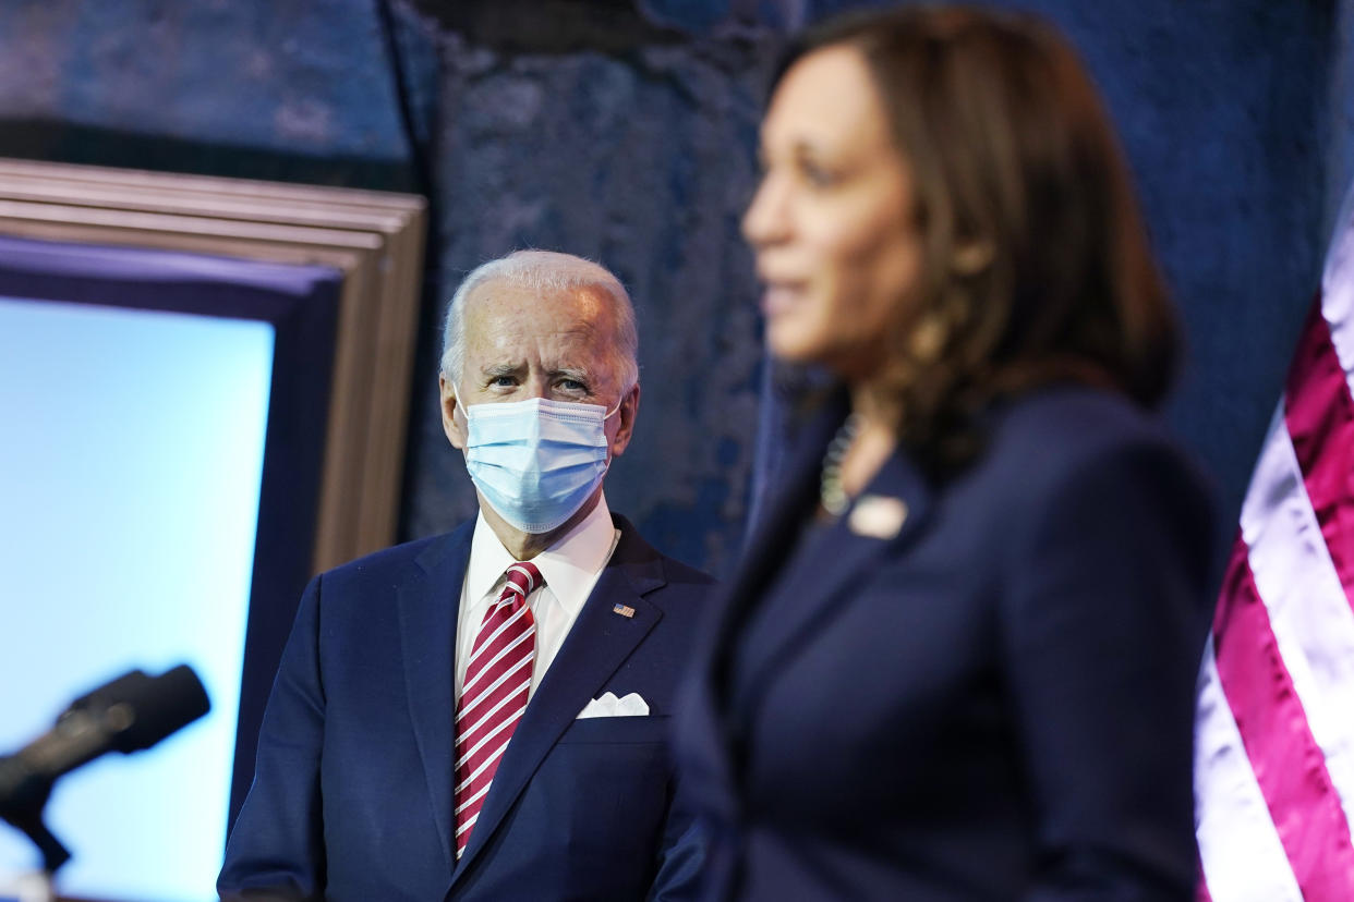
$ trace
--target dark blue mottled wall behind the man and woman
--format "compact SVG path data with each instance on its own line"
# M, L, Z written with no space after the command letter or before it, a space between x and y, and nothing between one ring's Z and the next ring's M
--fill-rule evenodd
M0 154L427 189L405 538L474 506L433 394L459 273L521 246L603 260L635 295L643 343L612 506L726 571L761 361L737 235L758 70L787 30L858 4L410 3L0 0ZM1124 133L1192 345L1169 415L1232 518L1354 173L1354 0L1007 5L1068 31Z

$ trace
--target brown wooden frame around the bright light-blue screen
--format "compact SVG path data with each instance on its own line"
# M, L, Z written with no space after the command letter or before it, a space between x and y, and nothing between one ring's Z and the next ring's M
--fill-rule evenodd
M427 201L352 188L0 160L0 234L343 273L311 572L398 523Z

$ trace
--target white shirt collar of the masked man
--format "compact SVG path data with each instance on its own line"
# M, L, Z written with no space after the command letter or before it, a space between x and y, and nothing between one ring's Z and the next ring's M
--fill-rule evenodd
M546 586L570 613L588 600L597 572L611 559L619 530L611 522L607 496L571 530L531 560L540 569ZM475 517L475 534L470 540L470 565L466 571L466 598L489 594L504 572L516 563L481 513Z

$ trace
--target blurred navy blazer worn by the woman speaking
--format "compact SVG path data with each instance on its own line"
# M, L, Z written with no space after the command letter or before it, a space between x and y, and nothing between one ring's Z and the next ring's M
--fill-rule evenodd
M802 531L842 412L807 429L685 694L708 897L1192 899L1215 538L1193 467L1124 400L1057 387L944 483L895 453L865 495L906 504L896 534Z

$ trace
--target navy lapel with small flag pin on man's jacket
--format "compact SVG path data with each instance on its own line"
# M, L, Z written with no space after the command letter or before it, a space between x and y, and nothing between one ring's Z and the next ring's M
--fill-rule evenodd
M642 598L666 581L658 554L634 526L619 517L616 521L621 527L620 544L504 751L452 883L493 837L561 734L662 619L662 610ZM615 604L635 609L635 615L617 615Z

